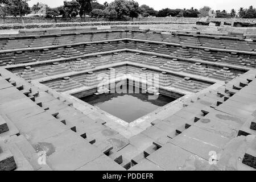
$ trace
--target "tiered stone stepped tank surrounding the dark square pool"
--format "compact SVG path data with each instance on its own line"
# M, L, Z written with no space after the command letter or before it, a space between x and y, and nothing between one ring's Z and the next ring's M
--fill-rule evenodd
M253 39L127 26L0 42L0 171L256 169ZM177 100L131 123L79 100L139 73Z

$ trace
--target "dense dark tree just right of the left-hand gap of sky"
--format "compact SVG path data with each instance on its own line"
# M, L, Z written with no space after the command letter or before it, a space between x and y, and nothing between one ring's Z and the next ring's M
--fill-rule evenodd
M64 1L64 6L59 9L63 17L74 18L79 14L80 4L75 1Z

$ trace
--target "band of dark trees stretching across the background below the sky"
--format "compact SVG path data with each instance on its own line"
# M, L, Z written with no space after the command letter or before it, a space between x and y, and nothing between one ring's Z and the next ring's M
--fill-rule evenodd
M30 0L0 0L0 16L19 16L23 17L31 12L37 13L40 10L40 4L30 8L28 6ZM122 19L130 17L131 19L138 16L148 17L205 17L214 16L217 18L256 18L256 9L250 6L247 9L241 7L238 11L232 9L229 13L226 10L213 11L208 6L204 6L197 10L191 9L162 9L159 11L147 5L139 6L134 0L115 0L111 3L105 2L103 5L97 0L72 0L64 1L62 6L51 8L46 6L46 18L55 18L62 16L63 18L74 18L76 16L90 16L92 18L108 18L109 20Z

